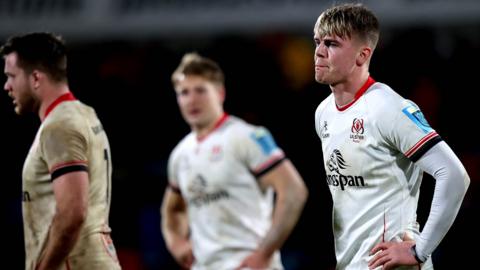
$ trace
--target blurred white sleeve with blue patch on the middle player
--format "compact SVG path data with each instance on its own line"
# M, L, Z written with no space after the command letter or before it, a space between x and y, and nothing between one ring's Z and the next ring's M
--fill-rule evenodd
M253 127L242 133L235 143L241 159L244 160L255 177L260 177L278 165L285 154L273 136L264 127Z

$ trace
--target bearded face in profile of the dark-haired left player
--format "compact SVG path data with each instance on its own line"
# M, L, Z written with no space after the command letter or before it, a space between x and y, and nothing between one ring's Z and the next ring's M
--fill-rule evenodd
M13 99L15 112L19 115L27 112L36 112L39 102L33 93L29 77L23 69L17 65L17 54L11 53L5 56L4 73L7 76L4 89Z

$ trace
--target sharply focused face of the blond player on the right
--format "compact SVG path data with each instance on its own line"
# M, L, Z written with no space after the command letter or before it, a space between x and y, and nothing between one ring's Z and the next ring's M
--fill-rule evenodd
M336 85L348 79L357 68L359 47L350 38L335 35L314 35L315 80L322 84Z

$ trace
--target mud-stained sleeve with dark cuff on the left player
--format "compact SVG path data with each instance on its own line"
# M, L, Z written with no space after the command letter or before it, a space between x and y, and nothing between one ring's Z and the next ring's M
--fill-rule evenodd
M69 172L88 171L86 128L60 121L43 129L40 144L52 181Z

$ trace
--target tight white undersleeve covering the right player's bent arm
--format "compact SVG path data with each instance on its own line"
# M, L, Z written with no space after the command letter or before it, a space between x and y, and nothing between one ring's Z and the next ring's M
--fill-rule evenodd
M452 226L470 178L452 149L440 142L417 162L423 171L435 180L435 192L425 227L417 239L416 251L421 260L426 260Z

